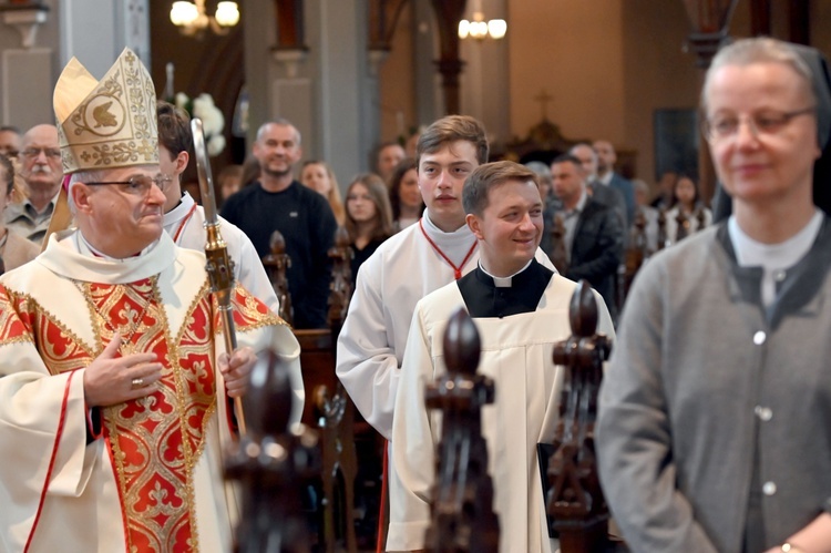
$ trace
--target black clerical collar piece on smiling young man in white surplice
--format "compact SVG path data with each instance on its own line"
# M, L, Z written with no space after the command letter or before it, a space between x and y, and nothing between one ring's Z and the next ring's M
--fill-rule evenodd
M481 266L456 280L471 317L510 317L535 311L554 273L532 259L510 277L510 286L500 286ZM504 279L502 279L504 280Z

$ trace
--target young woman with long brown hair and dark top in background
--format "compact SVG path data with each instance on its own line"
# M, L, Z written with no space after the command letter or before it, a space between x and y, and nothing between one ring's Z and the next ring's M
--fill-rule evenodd
M392 236L392 215L387 185L375 173L356 176L347 188L346 229L353 257L352 289L358 269L383 240Z

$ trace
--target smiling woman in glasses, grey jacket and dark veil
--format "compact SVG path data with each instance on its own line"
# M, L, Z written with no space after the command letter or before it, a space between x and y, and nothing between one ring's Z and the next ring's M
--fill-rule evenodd
M702 131L732 215L642 268L601 390L601 480L633 551L829 551L825 68L756 38L707 71Z

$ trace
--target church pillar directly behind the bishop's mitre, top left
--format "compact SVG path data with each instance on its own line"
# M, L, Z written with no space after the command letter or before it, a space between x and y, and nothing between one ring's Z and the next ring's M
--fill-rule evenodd
M34 32L21 31L25 20ZM129 45L150 66L147 0L22 1L0 10L0 109L21 131L54 123L52 91L74 55L96 78Z

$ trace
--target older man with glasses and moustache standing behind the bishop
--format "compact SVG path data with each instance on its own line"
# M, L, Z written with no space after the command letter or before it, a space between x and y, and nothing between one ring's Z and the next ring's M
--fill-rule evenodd
M63 170L54 125L31 127L22 141L20 175L25 181L27 199L6 209L6 226L40 244L52 218Z

